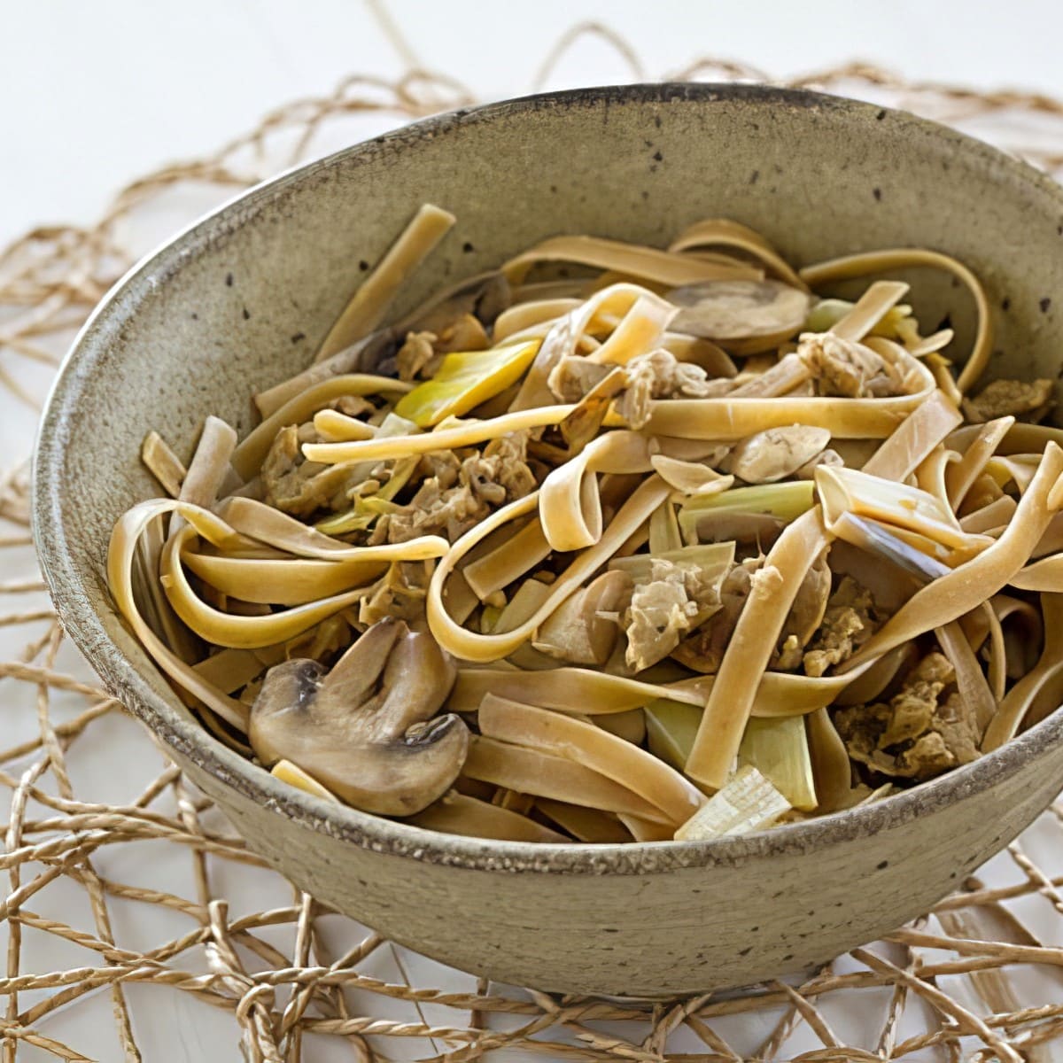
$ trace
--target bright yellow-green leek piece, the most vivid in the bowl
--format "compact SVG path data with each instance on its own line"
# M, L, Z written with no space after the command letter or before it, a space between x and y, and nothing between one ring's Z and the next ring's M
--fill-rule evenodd
M468 414L516 384L539 351L539 340L448 354L431 381L419 384L395 404L400 417L431 428L448 417Z

